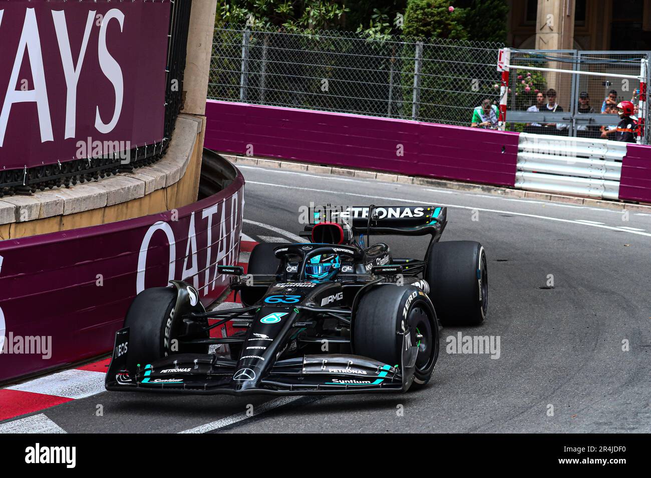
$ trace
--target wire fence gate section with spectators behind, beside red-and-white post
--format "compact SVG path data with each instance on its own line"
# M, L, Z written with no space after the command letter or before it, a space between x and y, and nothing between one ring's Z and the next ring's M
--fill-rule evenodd
M615 139L613 132L620 121L616 105L620 101L631 101L635 115L639 116L637 77L641 73L641 60L648 57L649 52L645 51L512 51L512 65L566 72L512 69L506 115L509 128L528 133ZM648 128L645 129L643 142L648 142Z

